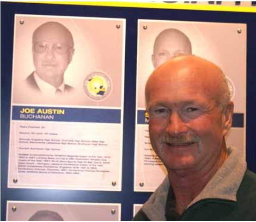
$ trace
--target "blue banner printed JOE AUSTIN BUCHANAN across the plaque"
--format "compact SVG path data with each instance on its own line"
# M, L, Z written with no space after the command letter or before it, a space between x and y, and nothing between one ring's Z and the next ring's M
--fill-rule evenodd
M12 120L121 123L121 110L13 105Z

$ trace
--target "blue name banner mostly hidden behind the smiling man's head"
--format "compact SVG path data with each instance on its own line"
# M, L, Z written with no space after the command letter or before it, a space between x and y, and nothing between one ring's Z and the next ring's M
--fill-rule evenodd
M148 124L149 118L145 115L145 110L138 110L137 124ZM232 127L244 127L244 114L234 113Z

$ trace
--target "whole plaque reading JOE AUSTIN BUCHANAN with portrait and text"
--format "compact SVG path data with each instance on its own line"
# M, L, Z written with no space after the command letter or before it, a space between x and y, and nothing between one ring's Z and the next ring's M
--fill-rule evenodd
M121 191L125 25L15 15L8 187Z

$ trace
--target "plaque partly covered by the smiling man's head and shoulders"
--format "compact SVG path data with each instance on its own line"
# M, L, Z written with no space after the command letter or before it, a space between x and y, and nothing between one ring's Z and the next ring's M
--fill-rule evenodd
M146 112L145 85L152 71L179 55L196 55L217 64L226 75L234 101L227 146L245 158L246 24L162 20L138 21L134 191L154 191L166 169L152 149ZM170 95L171 96L171 95Z

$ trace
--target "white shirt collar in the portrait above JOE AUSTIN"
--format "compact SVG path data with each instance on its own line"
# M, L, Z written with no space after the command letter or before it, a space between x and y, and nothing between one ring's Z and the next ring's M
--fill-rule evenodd
M58 88L55 88L54 86L52 86L51 84L49 84L48 82L43 81L36 72L34 72L34 78L35 81L37 82L38 87L40 88L41 93L43 93L43 95L46 96L56 96L56 90L59 89L61 90L61 92L58 93L59 94L64 94L65 93L65 83L64 81L62 82L61 86L59 86Z

